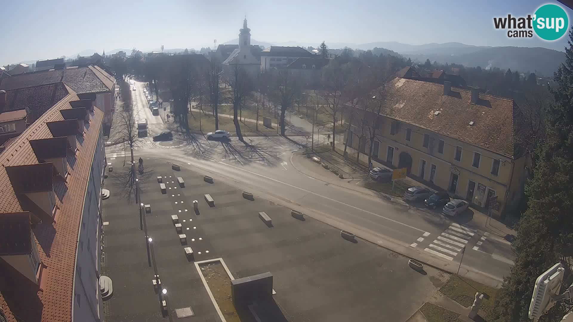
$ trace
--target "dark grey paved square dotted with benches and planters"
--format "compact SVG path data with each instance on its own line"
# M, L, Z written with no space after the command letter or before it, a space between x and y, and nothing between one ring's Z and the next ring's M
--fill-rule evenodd
M397 253L361 239L349 242L340 230L309 217L295 219L290 209L257 196L245 199L240 189L217 178L207 183L204 174L183 165L174 171L161 160L144 158L144 163L152 174L141 180L142 202L151 205L147 229L170 294L170 311L174 315L177 308L191 307L195 313L178 321L218 320L193 262L185 256L186 246L193 249L195 261L222 257L235 278L271 272L274 300L289 321L377 321L381 316L403 321L448 278L431 268L418 273ZM123 171L121 164L114 171L110 176ZM164 193L157 176L162 176ZM154 272L148 266L138 208L134 201L128 204L114 197L113 190L120 187L111 183L108 178L106 189L112 197L104 205L104 221L109 222L104 270L115 291L105 305L107 320L159 320L158 297L151 284ZM205 194L213 198L214 206L208 205ZM272 225L261 221L260 211L269 215ZM175 227L173 215L180 228ZM185 242L180 234L186 234Z

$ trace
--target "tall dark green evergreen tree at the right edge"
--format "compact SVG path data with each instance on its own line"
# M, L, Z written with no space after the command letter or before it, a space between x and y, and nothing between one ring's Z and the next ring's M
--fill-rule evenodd
M529 199L513 243L515 265L497 293L492 321L528 321L533 283L556 262L563 263L564 281L570 281L567 261L573 256L573 29L569 38L566 62L554 77L555 102L545 107L545 142L537 145L533 178L525 187ZM535 74L529 78L535 80ZM564 303L556 304L540 321L561 320L564 308Z

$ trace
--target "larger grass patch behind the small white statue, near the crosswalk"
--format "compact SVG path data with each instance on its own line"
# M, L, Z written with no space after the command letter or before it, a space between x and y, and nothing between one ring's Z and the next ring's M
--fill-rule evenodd
M472 305L476 292L488 294L489 300L484 300L480 308L485 312L484 319L488 319L491 316L497 293L495 288L456 275L452 275L439 291L457 303L464 305L464 307Z

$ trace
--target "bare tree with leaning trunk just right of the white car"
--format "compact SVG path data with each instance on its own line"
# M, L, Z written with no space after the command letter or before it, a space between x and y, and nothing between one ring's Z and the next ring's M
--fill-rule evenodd
M225 84L230 88L231 96L229 101L233 104L233 123L237 136L241 142L245 142L241 133L241 124L238 119L239 108L245 104L248 97L253 92L253 80L244 68L238 65L230 66L229 73L225 77Z

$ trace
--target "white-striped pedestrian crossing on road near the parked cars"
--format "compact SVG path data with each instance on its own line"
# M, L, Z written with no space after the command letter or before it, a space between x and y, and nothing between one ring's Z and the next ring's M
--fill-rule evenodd
M435 256L452 261L454 257L462 253L466 244L475 234L475 229L452 223L448 229L436 237L424 250Z

